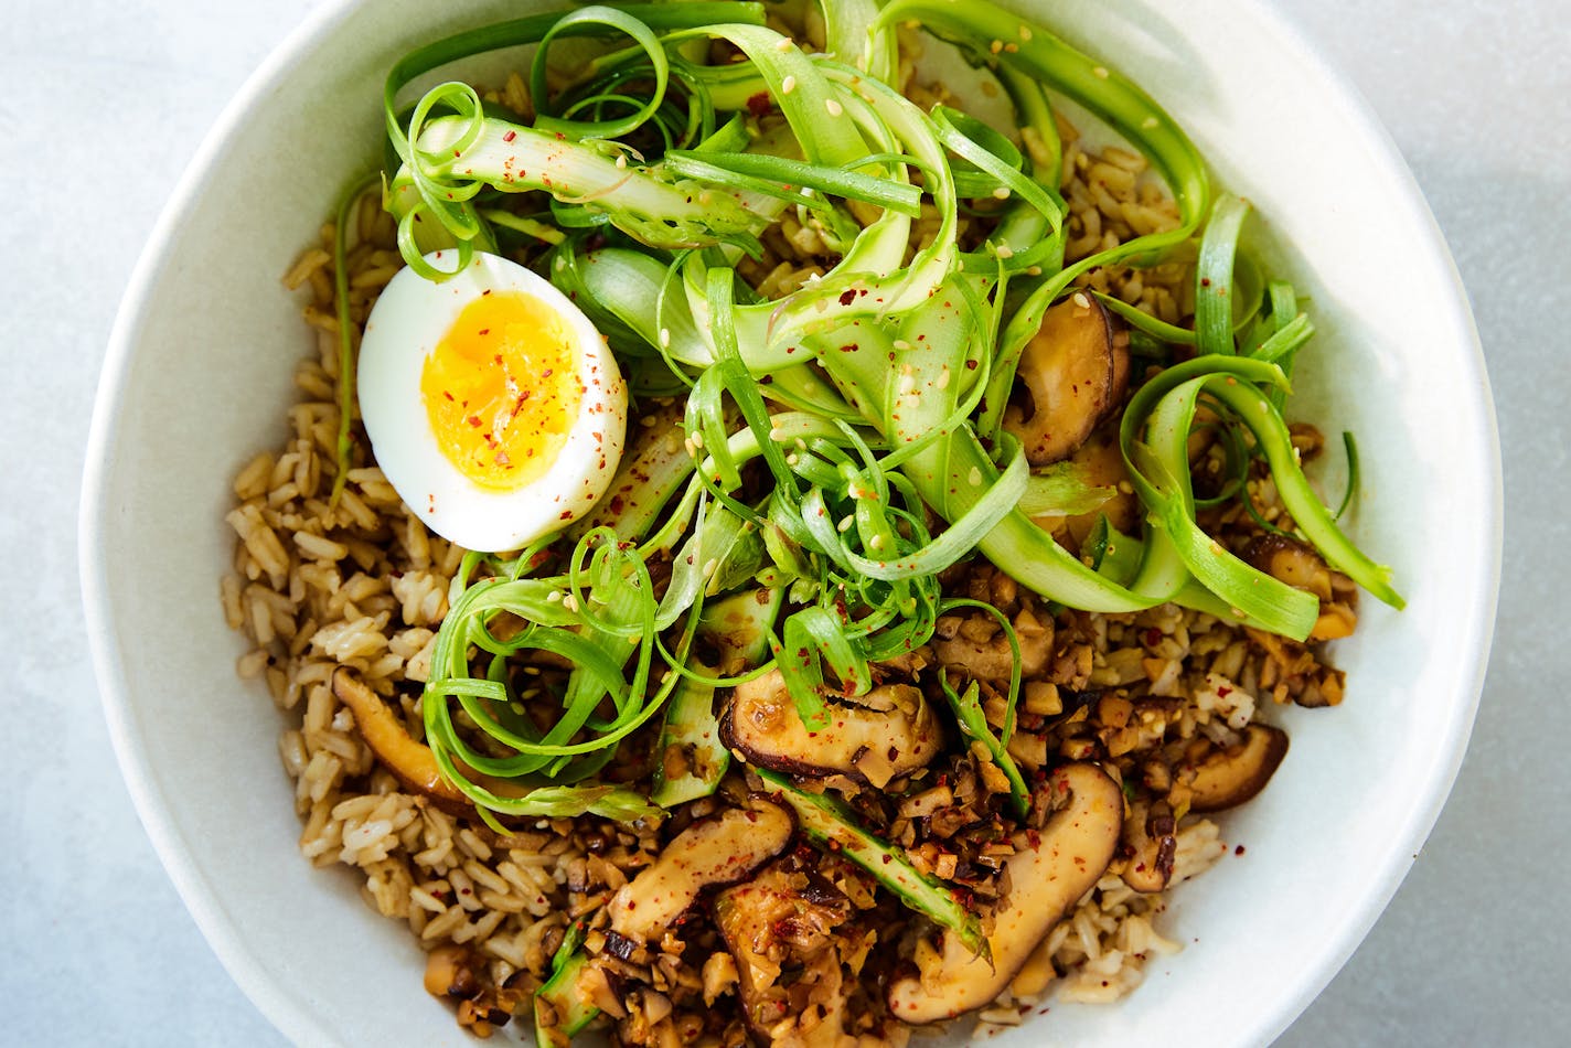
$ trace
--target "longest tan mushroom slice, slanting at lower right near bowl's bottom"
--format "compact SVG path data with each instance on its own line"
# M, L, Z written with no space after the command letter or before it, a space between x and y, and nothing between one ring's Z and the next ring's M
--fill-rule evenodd
M1112 863L1123 825L1119 784L1081 762L1057 768L1043 789L1059 809L1031 847L1005 859L1010 891L993 911L991 960L946 935L943 951L922 971L889 984L895 1018L938 1023L985 1007Z

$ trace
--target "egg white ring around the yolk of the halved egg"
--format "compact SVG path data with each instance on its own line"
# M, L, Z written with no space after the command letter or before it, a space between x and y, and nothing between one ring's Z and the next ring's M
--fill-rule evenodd
M452 251L427 256L438 269L451 259ZM421 398L426 357L487 291L523 292L562 319L583 388L556 460L512 490L481 487L448 460ZM589 317L547 280L481 251L441 283L410 269L388 283L366 319L357 391L388 482L427 528L468 550L517 550L584 515L610 487L627 437L627 382Z

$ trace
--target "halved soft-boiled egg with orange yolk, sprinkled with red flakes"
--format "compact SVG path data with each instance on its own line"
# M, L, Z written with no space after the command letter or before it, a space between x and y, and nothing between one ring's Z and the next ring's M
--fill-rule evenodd
M441 283L408 269L388 283L366 319L357 390L382 473L468 550L517 550L584 515L627 435L627 383L589 317L479 251Z

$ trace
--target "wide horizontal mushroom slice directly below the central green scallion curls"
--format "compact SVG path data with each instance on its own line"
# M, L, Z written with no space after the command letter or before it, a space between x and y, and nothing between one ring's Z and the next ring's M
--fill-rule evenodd
M720 737L743 759L789 775L845 775L883 787L938 756L943 729L922 693L886 683L851 702L829 702L829 723L809 729L778 669L737 685Z

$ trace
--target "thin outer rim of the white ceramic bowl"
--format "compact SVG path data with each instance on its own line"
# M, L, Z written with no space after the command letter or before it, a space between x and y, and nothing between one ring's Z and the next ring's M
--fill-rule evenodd
M113 508L105 500L105 481L113 453L110 435L116 431L124 409L124 379L135 355L137 336L145 324L151 292L170 262L168 248L174 231L207 185L214 167L240 134L244 115L303 60L314 42L346 20L361 3L363 0L325 0L319 8L309 11L270 50L223 107L176 182L137 261L110 332L93 404L77 522L88 647L110 742L137 814L181 900L229 977L284 1037L298 1043L328 1043L331 1034L314 1017L303 1013L280 990L275 973L261 963L239 935L223 905L222 892L198 874L192 859L192 845L171 817L171 809L151 775L152 762L138 716L129 702L116 619L110 613L107 600L110 566L104 558L102 536L110 526L108 517ZM1291 55L1295 64L1313 75L1316 83L1349 118L1345 126L1346 135L1364 146L1370 167L1398 190L1395 200L1400 201L1400 209L1404 212L1403 218L1411 228L1420 231L1428 256L1433 264L1444 270L1452 294L1434 306L1447 313L1445 325L1455 330L1459 341L1470 349L1456 363L1464 368L1466 377L1477 390L1478 432L1474 434L1475 440L1470 445L1474 460L1469 467L1489 481L1488 501L1475 514L1486 531L1480 544L1483 555L1467 564L1472 575L1467 580L1467 589L1478 594L1480 600L1458 610L1463 619L1458 636L1463 639L1466 652L1463 666L1467 669L1456 682L1463 701L1450 707L1444 745L1433 754L1434 760L1430 764L1423 789L1414 792L1414 803L1392 836L1393 847L1387 850L1382 863L1370 870L1370 888L1365 891L1360 907L1353 913L1342 914L1340 933L1327 938L1326 947L1301 968L1295 993L1284 995L1277 1007L1262 1013L1262 1020L1254 1029L1243 1031L1251 1042L1268 1043L1304 1012L1364 943L1368 930L1400 888L1412 861L1417 859L1419 850L1450 797L1472 734L1494 636L1503 548L1503 478L1494 399L1467 291L1417 179L1403 160L1390 132L1353 79L1323 55L1304 31L1274 5L1255 3L1252 6L1258 25L1276 38L1277 46Z

